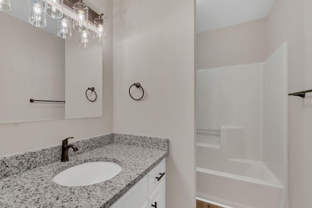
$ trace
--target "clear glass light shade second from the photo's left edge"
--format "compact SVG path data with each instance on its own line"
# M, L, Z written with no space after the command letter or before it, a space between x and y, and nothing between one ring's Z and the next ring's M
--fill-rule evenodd
M36 27L46 26L46 15L44 10L44 2L41 0L29 0L28 20L29 23Z

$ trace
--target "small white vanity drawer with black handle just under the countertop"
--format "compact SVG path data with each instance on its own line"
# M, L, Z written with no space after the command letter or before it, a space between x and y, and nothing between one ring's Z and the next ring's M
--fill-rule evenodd
M148 173L148 192L152 191L157 184L166 180L166 159L163 159L155 168ZM158 179L157 179L158 178Z

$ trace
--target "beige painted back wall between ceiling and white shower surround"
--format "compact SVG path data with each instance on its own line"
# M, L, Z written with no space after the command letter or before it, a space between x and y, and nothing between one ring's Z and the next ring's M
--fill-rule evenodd
M264 61L265 35L266 19L197 34L196 70Z

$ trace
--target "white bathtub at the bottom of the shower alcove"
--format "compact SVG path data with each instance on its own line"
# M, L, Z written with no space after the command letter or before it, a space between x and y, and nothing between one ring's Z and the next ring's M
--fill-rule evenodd
M197 145L198 198L232 208L284 208L284 187L262 162L227 159L218 151Z

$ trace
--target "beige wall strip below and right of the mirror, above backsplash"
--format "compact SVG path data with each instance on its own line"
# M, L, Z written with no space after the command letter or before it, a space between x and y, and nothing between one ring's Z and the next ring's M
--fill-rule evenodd
M103 117L0 124L0 156L60 144L69 136L78 140L112 132L113 1L97 0L97 3L98 10L105 13L108 20L107 41L103 47Z

